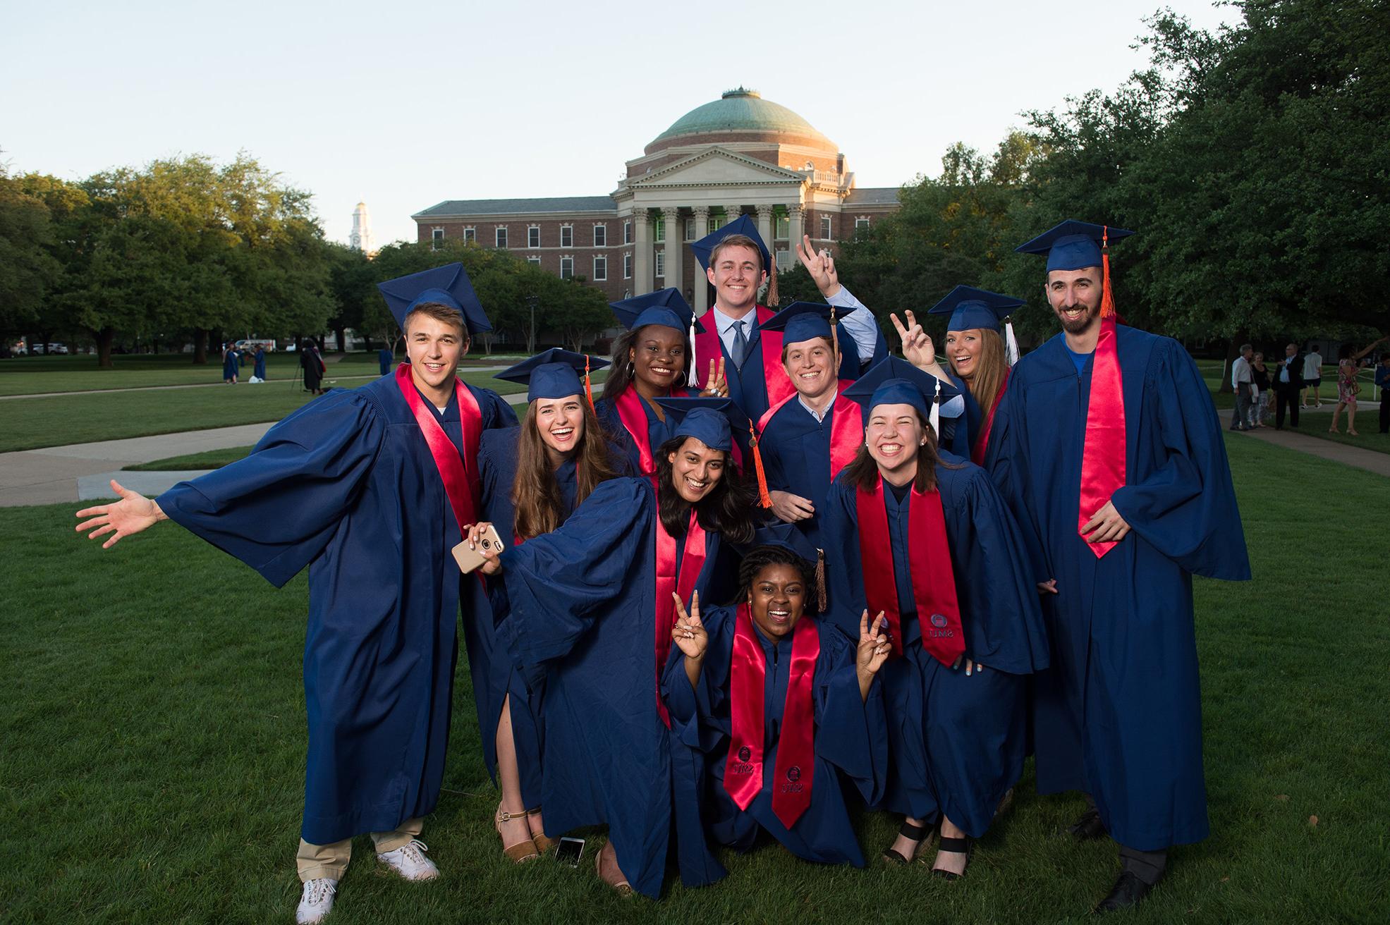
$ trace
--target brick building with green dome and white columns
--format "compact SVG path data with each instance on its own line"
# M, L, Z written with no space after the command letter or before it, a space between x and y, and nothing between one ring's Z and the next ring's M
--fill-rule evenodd
M802 233L834 250L898 208L898 189L858 189L835 143L753 90L730 90L676 119L627 162L607 196L446 200L411 218L418 239L506 247L609 300L676 286L702 314L713 297L689 242L749 212L777 267Z

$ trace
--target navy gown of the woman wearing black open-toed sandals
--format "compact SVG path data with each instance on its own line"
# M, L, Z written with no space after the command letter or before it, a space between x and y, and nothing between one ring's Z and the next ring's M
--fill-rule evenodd
M1023 772L1024 675L1047 665L1047 638L1023 536L990 478L941 454L937 486L966 639L986 665L966 676L922 647L908 567L908 497L884 492L903 656L878 672L888 704L890 769L881 806L919 819L944 812L972 838ZM867 607L856 492L844 474L830 488L824 532L831 615L855 629ZM872 617L873 614L870 614Z

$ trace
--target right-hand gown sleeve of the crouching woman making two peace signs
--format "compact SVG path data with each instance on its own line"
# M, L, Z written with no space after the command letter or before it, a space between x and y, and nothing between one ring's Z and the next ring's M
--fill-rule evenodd
M816 754L855 782L870 806L883 799L888 776L888 719L883 685L859 696L855 646L834 626L821 626L816 662Z

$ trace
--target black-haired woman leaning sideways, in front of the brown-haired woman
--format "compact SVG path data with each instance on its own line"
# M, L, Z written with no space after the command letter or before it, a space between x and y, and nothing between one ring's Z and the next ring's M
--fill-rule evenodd
M510 611L498 632L513 661L546 675L546 833L606 824L599 875L651 897L673 826L688 886L724 875L705 843L698 768L676 761L659 681L671 593L688 601L696 590L731 592L723 543L753 535L753 499L730 458L724 415L738 414L734 404L669 399L666 412L678 424L655 478L599 485L559 529L484 567L506 581Z

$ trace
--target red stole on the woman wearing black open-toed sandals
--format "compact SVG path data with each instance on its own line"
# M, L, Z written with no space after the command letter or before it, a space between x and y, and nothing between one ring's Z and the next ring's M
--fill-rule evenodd
M898 611L898 583L892 567L892 539L884 508L883 475L873 492L855 490L859 518L859 558L863 567L865 597L870 617L883 611L892 635L892 654L902 654L902 615ZM941 493L935 489L908 496L908 571L912 597L922 624L922 647L948 668L965 654L960 606L956 603L951 547Z

